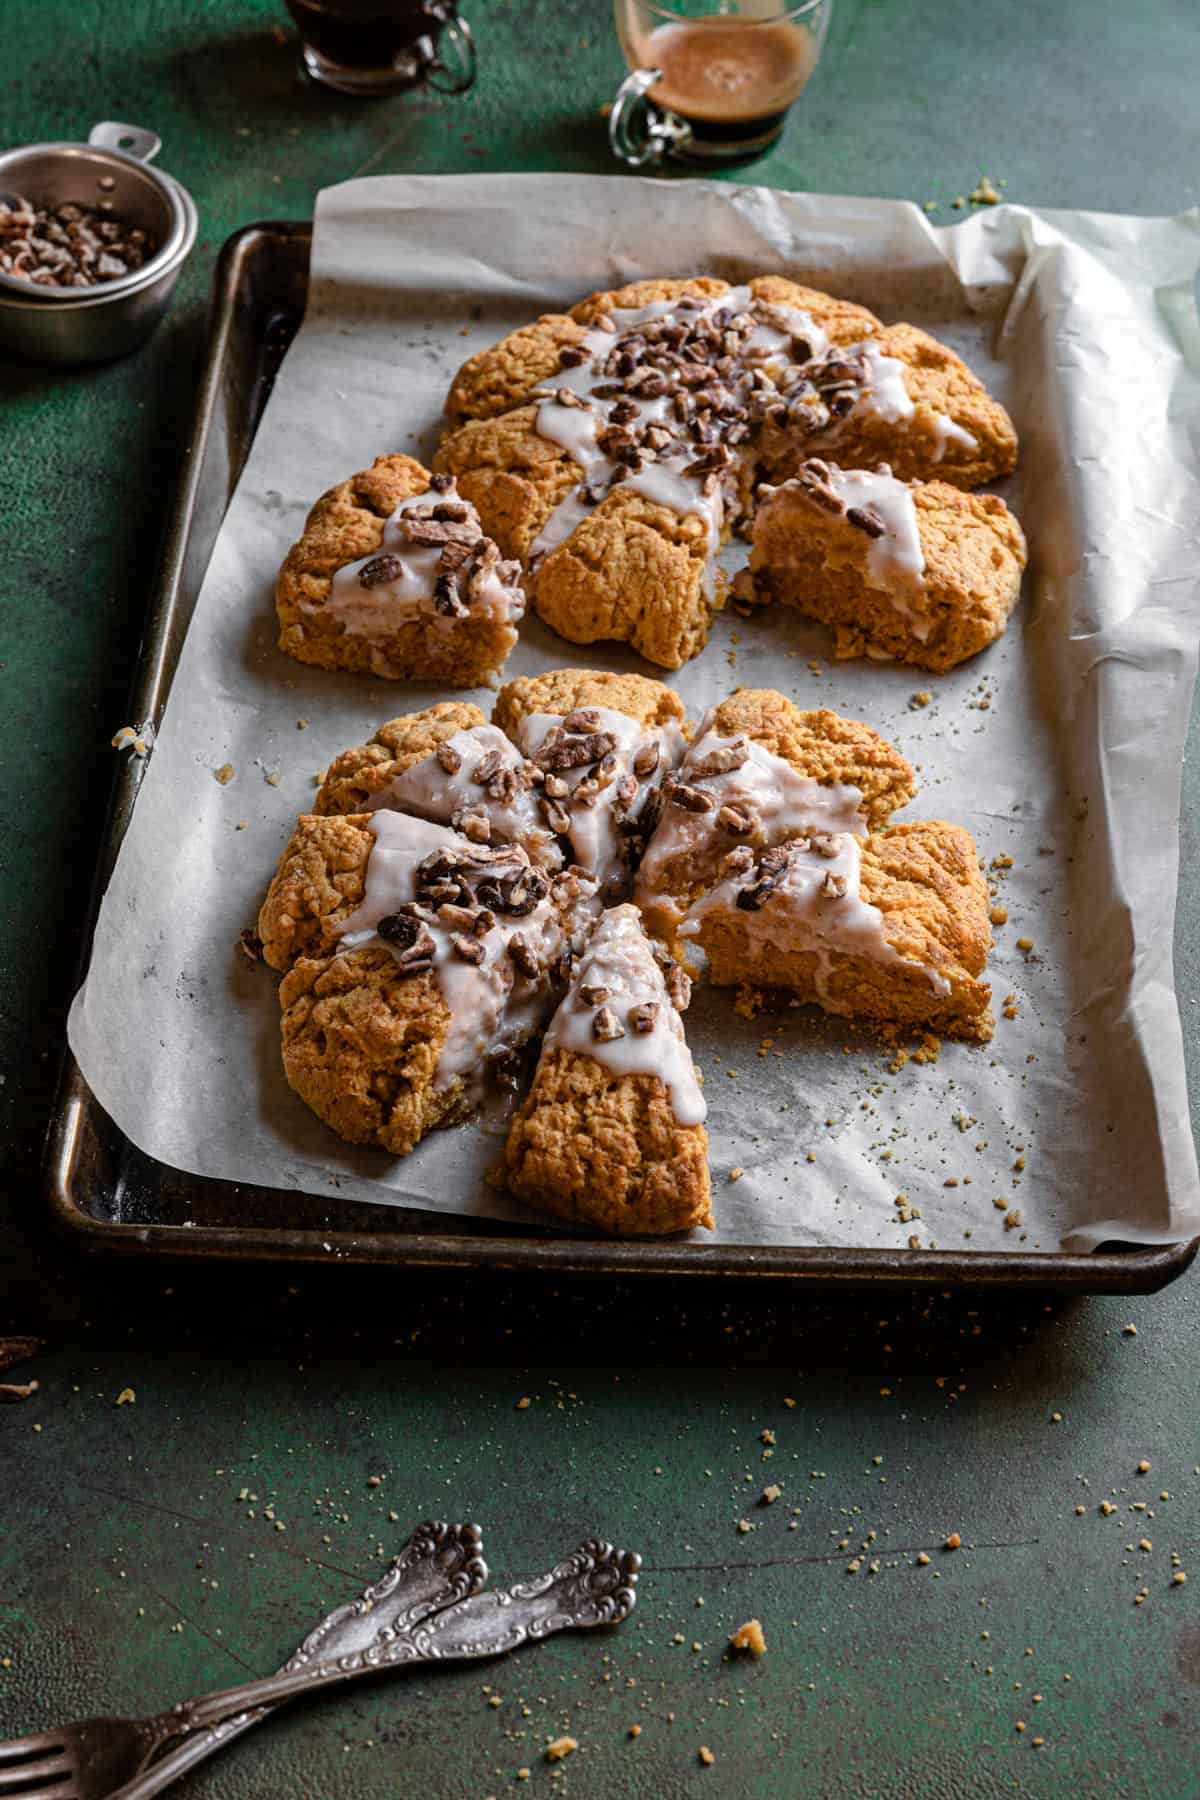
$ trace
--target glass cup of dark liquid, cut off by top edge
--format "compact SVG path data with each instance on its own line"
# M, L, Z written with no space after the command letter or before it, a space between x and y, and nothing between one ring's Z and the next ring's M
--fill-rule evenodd
M475 79L471 31L455 0L286 0L304 68L338 94L432 86L464 94Z

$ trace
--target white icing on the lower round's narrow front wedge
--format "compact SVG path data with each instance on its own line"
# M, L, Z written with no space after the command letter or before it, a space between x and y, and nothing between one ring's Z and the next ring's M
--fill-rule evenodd
M590 1004L583 992L603 992ZM630 1013L653 1008L648 1031L639 1031ZM597 1037L597 1019L606 1012L621 1037ZM606 1024L601 1019L601 1026ZM633 905L603 913L579 958L570 992L554 1013L542 1055L569 1049L592 1057L613 1075L655 1075L671 1094L671 1112L680 1125L702 1125L707 1116L696 1069L684 1037L684 1024L671 1004L662 970L653 958Z

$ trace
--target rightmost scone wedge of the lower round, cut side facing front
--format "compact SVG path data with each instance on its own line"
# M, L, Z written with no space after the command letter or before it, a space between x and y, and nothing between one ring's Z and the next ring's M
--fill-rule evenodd
M700 943L714 986L991 1037L991 988L979 979L991 949L988 891L975 841L957 824L732 851L680 936Z

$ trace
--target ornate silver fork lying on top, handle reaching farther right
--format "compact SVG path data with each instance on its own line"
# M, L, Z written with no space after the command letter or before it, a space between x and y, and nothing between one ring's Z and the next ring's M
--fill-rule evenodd
M516 1582L502 1591L475 1593L399 1631L389 1631L387 1636L378 1633L362 1647L338 1649L333 1658L320 1663L306 1661L264 1681L184 1701L155 1719L85 1721L65 1732L23 1739L22 1757L29 1757L31 1746L34 1751L43 1751L43 1757L34 1762L25 1760L20 1777L7 1786L5 1775L9 1768L16 1769L16 1764L4 1760L13 1746L0 1746L0 1795L20 1793L20 1800L149 1800L184 1768L191 1768L193 1759L185 1759L185 1751L191 1748L193 1733L203 1732L207 1737L212 1726L227 1723L241 1730L239 1721L252 1710L403 1663L502 1656L556 1631L615 1625L633 1611L639 1568L640 1557L633 1552L615 1550L592 1537L534 1580ZM101 1764L108 1741L122 1733L128 1744L131 1732L139 1733L135 1768L140 1773L113 1789L112 1780L122 1780L124 1775L113 1777L104 1769L103 1778L94 1778L92 1768ZM153 1762L160 1748L176 1737L184 1737L182 1750ZM219 1741L227 1742L228 1737ZM209 1742L209 1748L216 1748L216 1742ZM41 1778L41 1786L18 1787L22 1777L25 1782Z

